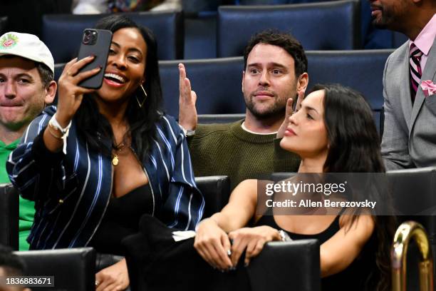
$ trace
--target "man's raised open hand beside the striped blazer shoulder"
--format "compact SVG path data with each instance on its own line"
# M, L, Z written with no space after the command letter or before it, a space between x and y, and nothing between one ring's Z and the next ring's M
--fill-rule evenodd
M197 127L197 94L191 90L183 63L179 63L179 93L179 124L186 130L193 130Z

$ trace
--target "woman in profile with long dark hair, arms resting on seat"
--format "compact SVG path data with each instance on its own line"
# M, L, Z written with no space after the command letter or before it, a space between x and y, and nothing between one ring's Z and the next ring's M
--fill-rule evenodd
M300 155L301 174L385 172L370 106L360 93L339 85L313 88L289 118L280 146ZM232 269L243 252L248 264L266 242L287 234L320 242L323 290L388 289L393 218L361 209L335 215L279 215L273 209L259 215L258 190L257 180L245 180L220 213L199 224L194 247L209 265ZM368 197L380 201L382 194ZM255 226L247 228L250 223Z

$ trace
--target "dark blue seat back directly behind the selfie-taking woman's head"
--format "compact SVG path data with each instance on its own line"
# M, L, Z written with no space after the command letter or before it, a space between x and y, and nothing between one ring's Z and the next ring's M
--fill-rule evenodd
M181 11L126 13L137 24L153 31L157 41L157 56L162 60L183 58L183 19ZM108 14L55 14L43 16L43 42L55 63L75 58L81 46L83 29L92 28Z

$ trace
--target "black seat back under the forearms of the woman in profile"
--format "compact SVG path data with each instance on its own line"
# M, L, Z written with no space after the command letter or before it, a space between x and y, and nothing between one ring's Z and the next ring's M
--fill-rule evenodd
M268 242L247 270L253 291L321 290L318 240Z

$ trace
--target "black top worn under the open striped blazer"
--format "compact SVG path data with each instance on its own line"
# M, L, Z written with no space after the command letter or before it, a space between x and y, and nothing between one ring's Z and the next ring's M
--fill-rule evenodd
M152 205L148 183L120 198L110 198L103 220L88 245L97 252L125 255L121 240L139 231L140 218L152 214Z

